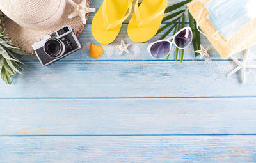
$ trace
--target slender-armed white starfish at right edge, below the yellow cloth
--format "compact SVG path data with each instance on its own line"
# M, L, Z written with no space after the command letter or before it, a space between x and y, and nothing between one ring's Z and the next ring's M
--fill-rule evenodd
M234 70L232 70L232 72L230 72L228 74L228 77L230 77L231 75L233 75L235 72L237 72L238 70L242 70L242 80L243 83L246 83L246 72L245 69L246 68L256 68L256 65L246 65L246 61L248 59L248 53L249 53L249 48L246 50L245 54L244 54L244 60L243 62L238 61L236 58L231 57L231 59L237 63L237 65L239 65L237 68L235 68Z

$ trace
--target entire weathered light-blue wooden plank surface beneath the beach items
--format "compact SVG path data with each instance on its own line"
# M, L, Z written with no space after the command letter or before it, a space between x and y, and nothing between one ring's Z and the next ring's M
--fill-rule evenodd
M0 162L256 161L255 70L243 85L240 73L226 77L236 64L213 48L211 59L195 58L192 46L184 63L174 61L174 47L170 60L156 61L146 47L164 31L118 55L114 46L131 42L128 20L92 59L94 14L82 50L47 67L22 57L31 66L24 75L0 82ZM202 44L211 47L204 36ZM256 47L251 52L255 63Z

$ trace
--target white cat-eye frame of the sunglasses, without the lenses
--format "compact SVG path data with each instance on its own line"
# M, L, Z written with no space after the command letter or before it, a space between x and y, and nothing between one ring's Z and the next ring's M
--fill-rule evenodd
M188 30L191 32L191 41L189 42L188 45L186 45L186 47L180 48L180 47L178 47L178 46L176 45L176 43L175 43L174 40L175 40L175 37L177 37L177 35L179 35L179 33L180 33L181 31L184 31L185 29L188 29ZM172 40L172 41L170 41L170 40ZM171 37L168 38L168 39L158 40L158 41L156 41L156 42L150 43L150 45L148 45L148 47L147 47L147 50L148 50L150 56L151 56L152 58L154 58L154 57L152 56L152 54L151 54L151 47L152 47L155 43L166 41L166 42L170 43L170 50L169 50L168 54L163 57L163 58L166 58L166 57L170 54L170 52L172 51L172 44L174 44L174 45L175 45L177 48L179 48L179 49L186 49L186 48L191 44L192 40L193 40L193 32L192 32L191 27L184 27L184 28L180 29L174 36L171 36ZM154 58L154 59L163 59L163 58Z

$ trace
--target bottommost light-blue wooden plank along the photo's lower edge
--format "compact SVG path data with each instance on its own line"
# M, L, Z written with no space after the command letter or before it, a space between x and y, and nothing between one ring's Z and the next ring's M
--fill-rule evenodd
M0 162L255 162L255 136L0 137Z

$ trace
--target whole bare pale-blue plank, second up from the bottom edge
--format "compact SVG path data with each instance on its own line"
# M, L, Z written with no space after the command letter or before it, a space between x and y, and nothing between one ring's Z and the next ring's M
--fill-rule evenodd
M255 99L0 100L0 135L256 134Z

